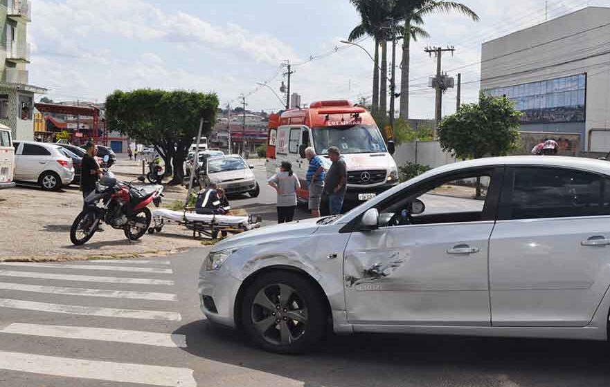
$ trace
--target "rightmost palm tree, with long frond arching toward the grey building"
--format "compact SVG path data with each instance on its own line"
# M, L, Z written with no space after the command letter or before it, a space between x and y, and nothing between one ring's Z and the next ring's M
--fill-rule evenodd
M435 1L435 0L395 0L396 10L402 14L401 19L404 20L404 39L402 41L402 64L401 64L401 80L400 80L400 117L405 120L409 118L409 60L411 39L417 40L413 33L413 25L421 25L423 17L434 13L449 13L459 12L473 21L478 21L478 15L465 6L463 3L456 1ZM425 35L420 35L425 36Z

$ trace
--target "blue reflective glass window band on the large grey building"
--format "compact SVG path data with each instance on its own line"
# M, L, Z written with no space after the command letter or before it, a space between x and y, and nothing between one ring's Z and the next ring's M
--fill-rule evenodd
M586 75L493 88L486 93L505 95L523 113L523 124L584 122Z

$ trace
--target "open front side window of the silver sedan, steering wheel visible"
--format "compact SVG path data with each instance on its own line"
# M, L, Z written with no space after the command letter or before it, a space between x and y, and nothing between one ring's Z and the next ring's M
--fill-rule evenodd
M428 225L438 223L479 222L492 182L491 171L450 176L424 183L419 189L407 189L379 209L381 227ZM415 210L420 200L423 211Z

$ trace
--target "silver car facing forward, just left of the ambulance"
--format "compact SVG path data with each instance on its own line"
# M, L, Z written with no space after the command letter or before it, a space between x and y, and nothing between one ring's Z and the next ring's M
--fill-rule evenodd
M246 164L240 155L224 155L208 158L199 173L199 185L207 187L215 183L227 195L248 193L255 198L260 193L258 182L251 171L254 167Z

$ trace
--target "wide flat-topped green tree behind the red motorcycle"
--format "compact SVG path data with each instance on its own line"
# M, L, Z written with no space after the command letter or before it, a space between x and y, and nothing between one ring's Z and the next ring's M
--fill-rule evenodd
M202 135L209 135L217 108L217 95L194 91L138 89L114 91L106 98L108 129L152 144L167 169L173 167L173 184L183 181L183 162L201 117Z

